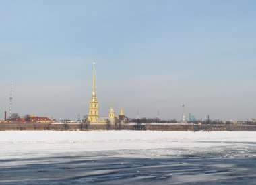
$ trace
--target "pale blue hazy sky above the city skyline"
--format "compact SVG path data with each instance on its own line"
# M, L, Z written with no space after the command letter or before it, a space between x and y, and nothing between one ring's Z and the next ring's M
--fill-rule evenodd
M0 0L0 119L256 118L256 1ZM1 116L2 115L2 116Z

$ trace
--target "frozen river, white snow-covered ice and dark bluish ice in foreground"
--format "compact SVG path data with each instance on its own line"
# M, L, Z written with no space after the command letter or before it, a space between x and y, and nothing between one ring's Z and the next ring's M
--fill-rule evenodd
M0 132L0 184L255 182L256 132Z

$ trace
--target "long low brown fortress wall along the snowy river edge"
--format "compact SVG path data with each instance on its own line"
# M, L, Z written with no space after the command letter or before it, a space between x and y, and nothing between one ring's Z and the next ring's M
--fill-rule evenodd
M0 123L0 131L7 130L153 130L153 131L256 131L256 125L182 125L182 124L51 124L51 123Z

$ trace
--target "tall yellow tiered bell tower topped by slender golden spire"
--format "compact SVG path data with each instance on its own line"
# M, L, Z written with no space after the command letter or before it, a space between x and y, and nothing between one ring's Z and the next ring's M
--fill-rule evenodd
M89 105L88 121L90 123L97 123L98 120L98 100L96 98L95 91L95 62L92 62L94 66L94 76L93 76L93 90L92 90L92 99Z

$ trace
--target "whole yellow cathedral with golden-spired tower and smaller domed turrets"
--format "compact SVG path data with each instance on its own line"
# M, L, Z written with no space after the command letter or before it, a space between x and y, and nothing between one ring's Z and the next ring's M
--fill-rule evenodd
M108 117L99 117L98 115L98 100L96 98L96 90L95 90L95 62L93 62L93 88L92 88L92 98L89 103L89 113L88 113L88 121L90 123L106 123L109 121L110 123L128 123L128 118L125 116L123 108L121 109L118 116L115 116L115 111L113 109L113 105L110 105L110 109L108 111Z

